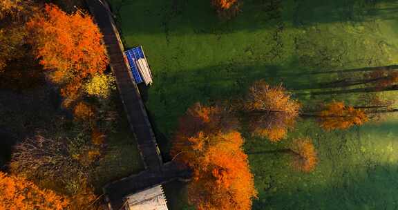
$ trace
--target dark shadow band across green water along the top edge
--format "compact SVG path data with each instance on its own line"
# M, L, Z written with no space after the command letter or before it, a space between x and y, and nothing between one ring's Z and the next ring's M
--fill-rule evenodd
M274 28L281 22L293 23L296 27L398 17L397 2L392 0L249 0L242 3L242 12L229 21L221 21L209 1L130 0L113 1L111 5L124 37L187 32L223 34Z

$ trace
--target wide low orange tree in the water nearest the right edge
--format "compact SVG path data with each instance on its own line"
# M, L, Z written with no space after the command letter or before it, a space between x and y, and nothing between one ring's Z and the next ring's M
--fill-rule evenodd
M326 105L320 115L321 127L326 131L350 128L368 121L368 116L363 110L345 106L343 102L332 102Z

